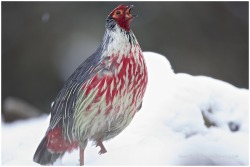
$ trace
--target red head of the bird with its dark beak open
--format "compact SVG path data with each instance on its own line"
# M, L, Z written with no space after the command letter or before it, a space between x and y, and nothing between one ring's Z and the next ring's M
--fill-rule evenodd
M131 14L131 9L134 5L119 5L116 7L108 16L107 24L109 20L114 20L116 24L120 26L120 28L124 29L125 31L130 31L130 21L136 17L137 15Z

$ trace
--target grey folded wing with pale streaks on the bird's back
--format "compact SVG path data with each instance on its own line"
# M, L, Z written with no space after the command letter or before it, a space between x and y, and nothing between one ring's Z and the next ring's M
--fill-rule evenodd
M59 125L63 127L64 134L71 134L68 133L68 131L72 129L74 108L79 89L81 89L81 86L95 75L101 67L100 53L99 47L97 51L87 58L66 81L52 105L48 131ZM68 139L71 140L71 136L68 136Z

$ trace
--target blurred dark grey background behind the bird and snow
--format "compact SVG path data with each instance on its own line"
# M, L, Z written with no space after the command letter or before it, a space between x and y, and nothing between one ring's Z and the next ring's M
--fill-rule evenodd
M175 72L248 88L248 2L2 2L5 121L50 112L120 3L135 5L131 26L142 49L165 55Z

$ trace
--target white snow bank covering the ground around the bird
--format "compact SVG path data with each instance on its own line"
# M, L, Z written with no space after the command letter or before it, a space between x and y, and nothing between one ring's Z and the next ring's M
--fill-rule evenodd
M248 90L205 76L174 73L168 60L144 52L149 83L142 109L120 135L88 144L86 165L248 165ZM207 127L206 117L213 126ZM38 165L33 154L49 124L44 115L2 123L2 165ZM78 150L58 165L79 165Z

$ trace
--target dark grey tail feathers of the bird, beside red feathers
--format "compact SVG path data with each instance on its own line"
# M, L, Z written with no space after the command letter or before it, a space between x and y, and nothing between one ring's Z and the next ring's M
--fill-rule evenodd
M45 136L39 144L33 161L41 165L52 165L59 157L61 158L64 153L53 153L47 149L48 138Z

